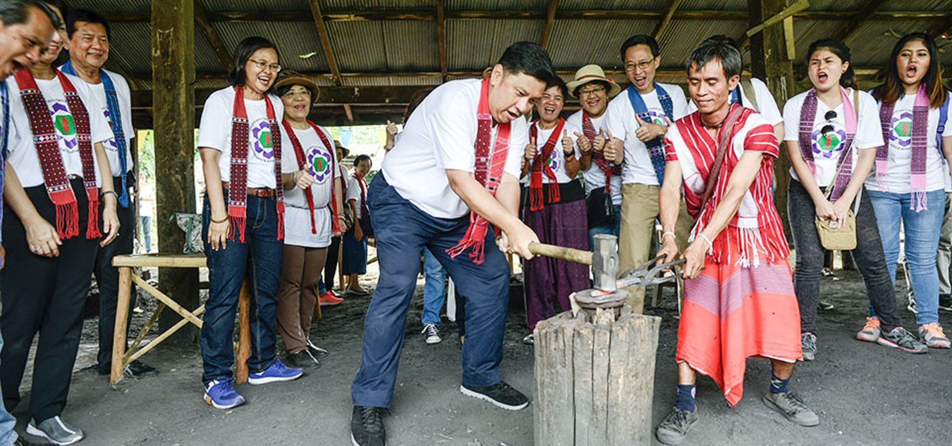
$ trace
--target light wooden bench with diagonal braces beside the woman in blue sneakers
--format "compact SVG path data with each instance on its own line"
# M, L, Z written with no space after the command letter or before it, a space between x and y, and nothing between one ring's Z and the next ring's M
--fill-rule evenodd
M152 286L148 281L132 274L132 268L204 268L206 267L206 259L204 254L137 254L116 256L112 259L112 266L119 269L119 296L116 302L115 332L112 338L112 368L109 376L109 383L115 387L116 383L118 383L123 376L123 368L129 365L129 362L139 359L163 340L169 339L172 334L188 323L202 328L202 320L199 318L205 313L204 304L196 308L195 311L188 311L188 309L178 302L172 301L169 296L159 291L158 288ZM129 285L132 282L139 285L139 287L146 292L145 295L158 300L159 306L155 309L155 313L153 313L149 321L146 322L146 326L142 327L142 330L135 337L135 340L132 341L132 345L130 345L127 350L126 329L129 320L129 298L131 292L131 286ZM238 300L239 337L237 345L238 354L235 358L237 364L235 380L239 383L248 380L248 357L250 357L251 354L251 331L249 328L250 301L248 280L246 279L242 283L241 294ZM142 348L139 348L139 344L146 338L152 325L159 319L159 315L162 314L162 311L166 307L171 308L172 311L181 316L182 320L179 320L169 327L168 330L155 339L152 339Z

